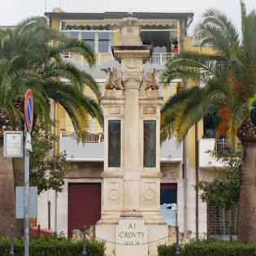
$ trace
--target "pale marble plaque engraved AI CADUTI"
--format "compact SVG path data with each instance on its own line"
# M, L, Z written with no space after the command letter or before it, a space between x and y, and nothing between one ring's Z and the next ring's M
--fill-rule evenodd
M148 232L143 219L120 219L116 227L116 256L148 255Z

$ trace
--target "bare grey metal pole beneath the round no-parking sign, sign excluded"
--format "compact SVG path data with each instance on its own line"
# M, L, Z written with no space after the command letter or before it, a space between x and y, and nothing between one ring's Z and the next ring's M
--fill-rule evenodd
M24 233L25 233L25 254L24 256L29 255L29 149L31 147L31 136L30 132L25 128L25 193L24 193Z

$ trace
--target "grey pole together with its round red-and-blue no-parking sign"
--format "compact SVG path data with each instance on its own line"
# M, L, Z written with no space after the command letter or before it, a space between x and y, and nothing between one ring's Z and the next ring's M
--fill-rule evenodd
M29 154L32 152L31 131L33 129L33 93L28 90L24 102L25 114L25 147L24 147L24 169L25 169L25 191L24 191L24 235L25 235L25 254L29 256Z

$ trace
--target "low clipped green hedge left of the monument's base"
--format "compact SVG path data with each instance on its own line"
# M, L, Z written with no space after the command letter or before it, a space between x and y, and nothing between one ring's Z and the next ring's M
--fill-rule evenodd
M105 246L102 242L86 241L88 256L104 256ZM83 249L83 242L74 242L65 238L44 237L32 238L30 241L31 256L78 256ZM0 240L0 255L8 256L10 240ZM15 256L24 255L24 240L15 240Z

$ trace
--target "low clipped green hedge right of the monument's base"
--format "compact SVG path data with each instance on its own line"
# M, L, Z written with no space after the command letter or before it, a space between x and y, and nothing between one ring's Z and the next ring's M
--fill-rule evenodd
M255 256L256 245L225 241L192 241L182 246L181 256ZM175 246L158 246L158 256L175 256Z

